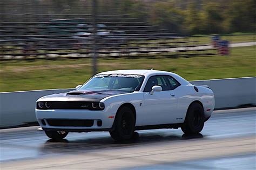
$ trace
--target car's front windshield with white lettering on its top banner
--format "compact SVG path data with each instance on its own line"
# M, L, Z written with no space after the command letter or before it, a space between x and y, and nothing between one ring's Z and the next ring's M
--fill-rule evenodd
M79 90L139 91L144 76L135 74L99 74L91 78Z

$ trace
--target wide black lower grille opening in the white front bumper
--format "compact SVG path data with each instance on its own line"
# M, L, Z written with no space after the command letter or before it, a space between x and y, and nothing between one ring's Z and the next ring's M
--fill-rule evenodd
M79 119L46 119L50 126L76 126L76 127L91 127L93 120Z

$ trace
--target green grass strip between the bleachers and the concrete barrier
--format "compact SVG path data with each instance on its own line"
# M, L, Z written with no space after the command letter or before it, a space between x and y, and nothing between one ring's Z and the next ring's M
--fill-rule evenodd
M98 71L153 68L178 73L187 80L256 76L255 47L232 48L230 56L98 59ZM0 91L75 87L91 77L91 62L91 59L1 62Z

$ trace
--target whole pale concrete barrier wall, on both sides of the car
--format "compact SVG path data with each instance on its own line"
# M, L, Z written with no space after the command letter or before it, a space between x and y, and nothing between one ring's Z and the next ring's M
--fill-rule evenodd
M190 81L208 85L215 95L215 108L256 105L256 77ZM36 90L0 93L0 127L17 126L36 121L35 103L42 96L72 89Z

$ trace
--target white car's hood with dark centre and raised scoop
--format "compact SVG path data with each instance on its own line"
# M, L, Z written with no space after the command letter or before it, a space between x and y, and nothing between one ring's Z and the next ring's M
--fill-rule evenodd
M129 91L120 90L98 90L98 91L78 91L73 90L67 93L51 94L44 96L38 101L100 101L106 97L131 93Z

